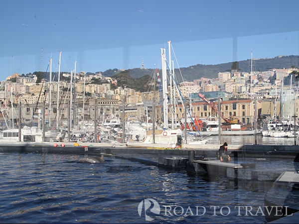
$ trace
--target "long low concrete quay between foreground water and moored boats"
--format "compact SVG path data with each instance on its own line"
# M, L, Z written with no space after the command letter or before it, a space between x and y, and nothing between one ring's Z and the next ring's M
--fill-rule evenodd
M57 147L53 145L57 144ZM61 145L65 145L61 147ZM79 154L156 154L156 155L182 155L188 156L188 151L195 151L196 156L216 158L220 144L198 144L196 148L160 149L158 144L154 148L127 147L124 143L80 143L74 142L1 142L0 152L48 152L48 153L79 153ZM228 152L232 157L263 157L294 159L299 153L298 145L233 145L230 144Z

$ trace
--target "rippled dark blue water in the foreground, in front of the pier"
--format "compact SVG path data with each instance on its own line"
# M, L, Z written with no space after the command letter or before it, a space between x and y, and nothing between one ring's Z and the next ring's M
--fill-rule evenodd
M77 162L83 155L0 156L0 223L149 223L145 213L151 223L265 222L261 213L245 216L235 207L251 206L255 215L267 191L242 189L222 175L211 179L115 157L89 164ZM294 170L290 161L256 162L261 169ZM145 212L143 206L140 216L145 199L155 200L160 213ZM165 216L165 206L172 216Z

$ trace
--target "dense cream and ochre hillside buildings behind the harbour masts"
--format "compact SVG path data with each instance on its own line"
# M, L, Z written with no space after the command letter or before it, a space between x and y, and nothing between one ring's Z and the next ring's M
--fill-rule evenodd
M294 69L273 69L251 74L238 71L219 72L217 79L200 78L193 82L182 82L177 87L180 91L180 95L177 92L173 95L178 102L175 114L178 119L182 118L181 111L183 109L180 98L186 98L188 101L190 101L190 99L192 101L192 108L190 108L190 110L194 115L201 118L213 116L215 114L211 108L197 95L198 93L202 93L203 95L209 96L210 99L216 99L221 93L221 96L223 96L223 107L221 110L225 116L237 117L238 121L242 123L252 123L254 121L253 94L258 101L259 116L262 114L261 111L264 112L263 114L266 114L266 109L263 107L264 105L269 105L269 103L266 104L265 102L280 101L280 104L282 104L281 96L283 96L283 93L281 90L283 85L285 90L290 89L290 85L283 83L283 80L288 77L292 71L294 71ZM57 110L58 91L60 93L59 104L76 105L72 110L76 110L73 113L77 114L75 116L78 117L77 122L79 122L80 119L92 117L91 113L93 113L92 108L94 107L92 105L94 105L95 100L96 104L101 108L99 114L113 113L121 117L122 109L120 107L122 107L122 103L125 102L126 108L128 108L126 109L126 117L136 115L140 119L145 119L147 112L152 112L153 99L155 99L157 106L160 102L158 99L161 95L158 91L154 92L150 90L147 93L141 93L131 88L119 87L117 86L117 80L111 77L104 78L100 74L87 76L85 72L79 73L76 77L76 84L72 84L72 86L69 82L69 75L64 73L63 76L67 79L60 81L59 85L57 81L50 83L46 79L36 84L37 78L34 75L29 78L20 76L19 74L13 74L9 79L7 78L6 81L2 81L0 83L2 117L10 117L11 113L13 113L12 110L9 109L11 103L15 107L21 104L24 107L24 116L27 116L25 120L29 121L31 119L32 121L32 114L36 113L37 108L40 109L42 104L45 104L45 110L50 110L48 105L51 103L51 114L53 116L51 119L54 119L55 116L58 115L57 112L63 114L65 118L65 109L62 111ZM102 79L105 82L95 84L92 82L94 78ZM116 86L116 88L112 89L112 85ZM168 93L170 93L169 87ZM297 107L297 92L293 93L293 95L292 99ZM290 101L292 101L292 99ZM83 101L86 108L82 112L80 108L83 105ZM290 108L285 110L289 110L288 114L294 114L294 112L290 111ZM298 113L298 109L296 109L295 113ZM156 114L158 117L162 116L158 110ZM273 115L273 112L268 114L268 116ZM16 117L16 114L14 117Z

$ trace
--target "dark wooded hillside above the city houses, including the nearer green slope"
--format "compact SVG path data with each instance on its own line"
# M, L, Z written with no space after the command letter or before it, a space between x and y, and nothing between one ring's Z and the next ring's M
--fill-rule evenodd
M217 65L192 65L187 68L175 69L175 76L178 83L184 81L193 81L195 79L204 78L218 78L219 72L230 71L232 68L232 62L217 64ZM299 56L278 56L275 58L266 59L254 59L253 60L253 71L268 71L270 69L283 69L283 68L298 68L299 67ZM240 72L250 72L251 71L251 60L239 61L238 69ZM180 74L181 72L181 74ZM109 69L101 72L104 77L112 77L118 81L118 86L128 87L135 89L136 91L148 92L153 90L153 79L155 77L155 69L128 69L126 71L120 72L119 69ZM161 73L161 71L160 71ZM34 72L37 76L37 83L39 83L43 78L49 79L48 72ZM27 74L26 77L33 77L31 73ZM93 73L87 73L92 75ZM160 74L161 75L161 74ZM24 76L24 74L22 74ZM57 75L54 76L57 80ZM183 77L183 78L182 78ZM61 79L68 80L69 78L62 77ZM15 82L15 79L12 79ZM157 86L155 87L157 90Z

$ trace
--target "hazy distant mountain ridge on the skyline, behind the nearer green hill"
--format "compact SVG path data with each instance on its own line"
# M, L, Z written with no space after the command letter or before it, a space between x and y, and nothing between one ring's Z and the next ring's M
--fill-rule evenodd
M227 72L232 68L233 62L222 63L217 65L192 65L187 68L180 68L184 81L192 82L195 79L203 78L218 78L219 72ZM251 71L251 59L238 62L240 72ZM269 71L270 69L284 69L284 68L298 68L299 56L277 56L275 58L253 59L253 71ZM153 77L155 69L128 69L125 71L129 76L134 79L139 79L145 75ZM176 78L179 82L182 81L180 72L178 69L174 69ZM122 73L122 72L121 72ZM121 74L119 73L119 74ZM161 73L161 71L160 71ZM105 75L105 72L103 73ZM114 77L114 76L112 76Z

